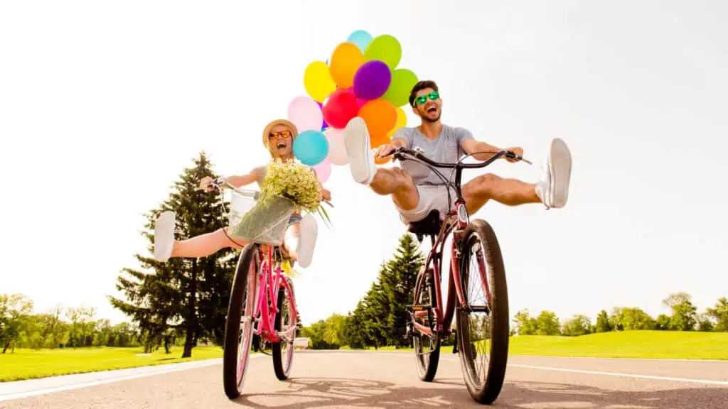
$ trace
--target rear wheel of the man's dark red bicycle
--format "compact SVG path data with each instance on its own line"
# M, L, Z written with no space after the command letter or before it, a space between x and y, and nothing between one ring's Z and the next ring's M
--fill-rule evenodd
M434 274L432 273L432 269L426 269L417 275L417 281L414 286L415 309L412 311L411 319L413 324L416 322L419 325L436 330L437 322L434 310L438 306L438 298L435 296L435 283L433 280ZM429 310L427 308L428 306L431 307ZM440 336L434 331L432 335L424 334L414 328L414 325L411 331L419 378L422 381L431 382L435 379L435 373L438 372L438 363L440 362Z

